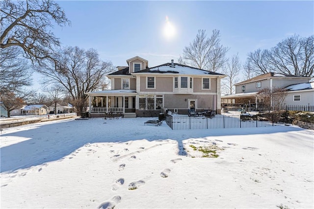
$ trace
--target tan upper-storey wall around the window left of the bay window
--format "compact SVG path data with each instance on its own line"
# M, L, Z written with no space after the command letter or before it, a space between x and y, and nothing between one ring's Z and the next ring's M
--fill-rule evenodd
M153 77L153 76L152 76ZM172 92L173 91L173 77L155 77L155 89L146 89L147 77L141 76L140 91L141 92Z

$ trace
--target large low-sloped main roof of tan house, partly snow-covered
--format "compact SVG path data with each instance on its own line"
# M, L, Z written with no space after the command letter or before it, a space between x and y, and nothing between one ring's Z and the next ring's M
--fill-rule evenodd
M220 73L214 73L194 67L190 67L187 65L182 65L178 63L174 63L172 67L172 63L165 63L162 65L158 65L152 68L146 68L141 71L137 71L132 74L141 74L141 73L160 73L160 74L181 74L181 75L217 75L217 76L225 76Z

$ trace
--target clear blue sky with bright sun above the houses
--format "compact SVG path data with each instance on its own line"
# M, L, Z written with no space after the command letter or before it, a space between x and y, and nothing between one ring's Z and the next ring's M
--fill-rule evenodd
M136 55L149 67L175 62L198 29L220 30L228 56L269 49L293 34L314 34L314 1L57 1L72 26L54 27L63 46L96 49L103 60L127 65ZM162 31L166 16L176 34Z

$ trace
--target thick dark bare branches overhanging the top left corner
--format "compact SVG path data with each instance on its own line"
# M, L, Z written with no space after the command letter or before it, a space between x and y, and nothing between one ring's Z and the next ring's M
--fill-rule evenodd
M51 32L52 21L58 26L70 24L63 9L51 0L2 0L0 2L0 47L20 47L32 61L51 57L59 40Z

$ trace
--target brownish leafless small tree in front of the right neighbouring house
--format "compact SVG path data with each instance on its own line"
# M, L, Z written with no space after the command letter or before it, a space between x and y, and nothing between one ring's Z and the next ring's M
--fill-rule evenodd
M258 92L258 97L263 98L263 107L268 111L280 111L284 108L284 101L287 97L287 90L283 88L273 87L264 88Z

